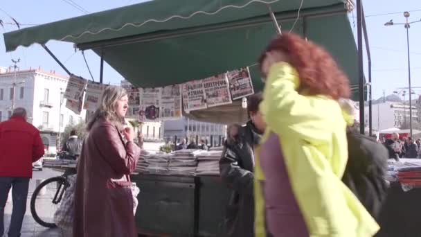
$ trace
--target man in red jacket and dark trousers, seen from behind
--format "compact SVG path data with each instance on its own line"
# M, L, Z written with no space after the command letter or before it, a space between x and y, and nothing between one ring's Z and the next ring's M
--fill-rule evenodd
M43 155L39 130L26 122L24 108L16 108L8 121L0 123L0 236L4 234L4 207L12 187L13 210L8 236L21 235L32 163Z

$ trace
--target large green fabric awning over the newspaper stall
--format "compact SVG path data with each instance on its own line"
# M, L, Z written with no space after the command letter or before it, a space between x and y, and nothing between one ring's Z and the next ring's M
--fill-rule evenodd
M269 3L269 4L268 4ZM18 46L73 42L138 87L161 87L251 66L275 35L268 6L282 30L325 46L357 85L357 49L343 0L155 0L4 34ZM257 90L256 67L250 67Z

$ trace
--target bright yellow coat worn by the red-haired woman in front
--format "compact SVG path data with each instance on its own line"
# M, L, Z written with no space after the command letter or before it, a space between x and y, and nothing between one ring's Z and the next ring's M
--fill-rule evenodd
M298 86L298 73L291 65L279 62L271 67L260 104L267 123L262 142L270 132L280 135L289 179L310 236L373 236L379 226L341 182L348 160L346 119L350 117L336 100L300 95ZM256 197L256 207L262 207L261 198ZM261 219L258 222L262 224ZM256 233L262 232L256 229Z

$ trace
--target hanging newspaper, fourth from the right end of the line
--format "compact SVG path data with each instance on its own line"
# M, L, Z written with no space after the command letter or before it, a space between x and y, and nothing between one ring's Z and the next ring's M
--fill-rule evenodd
M161 95L161 119L181 117L181 85L163 87Z

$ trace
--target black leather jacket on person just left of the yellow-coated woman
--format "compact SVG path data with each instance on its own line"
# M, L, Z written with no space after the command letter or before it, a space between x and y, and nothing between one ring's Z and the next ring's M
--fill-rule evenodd
M225 143L220 159L222 181L232 189L226 207L224 236L253 237L253 148L260 141L253 123L240 128L238 141Z

